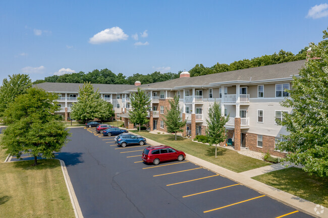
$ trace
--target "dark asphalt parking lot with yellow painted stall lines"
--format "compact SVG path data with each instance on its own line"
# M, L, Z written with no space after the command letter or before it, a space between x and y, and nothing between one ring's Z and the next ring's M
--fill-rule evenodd
M66 163L85 218L311 217L188 161L146 165L141 154L149 144L121 148L115 136L94 129L70 129L56 156Z

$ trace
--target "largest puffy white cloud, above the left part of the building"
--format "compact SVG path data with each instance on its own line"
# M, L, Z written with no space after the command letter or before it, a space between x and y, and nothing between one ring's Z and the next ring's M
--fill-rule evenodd
M105 29L89 39L91 44L100 44L105 42L117 42L120 40L127 40L128 35L123 32L120 27L112 27L111 29Z

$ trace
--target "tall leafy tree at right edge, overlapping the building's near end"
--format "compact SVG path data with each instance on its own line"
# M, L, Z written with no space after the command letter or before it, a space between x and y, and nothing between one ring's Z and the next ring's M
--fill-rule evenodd
M323 41L311 43L308 61L293 77L289 98L281 104L293 108L278 122L289 135L279 143L279 150L287 151L286 160L301 164L305 172L320 177L328 176L328 33Z

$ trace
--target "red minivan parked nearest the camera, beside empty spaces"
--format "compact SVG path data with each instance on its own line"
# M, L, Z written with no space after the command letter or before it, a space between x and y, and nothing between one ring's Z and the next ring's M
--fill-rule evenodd
M186 154L170 146L152 146L147 147L142 152L143 162L158 165L162 161L178 160L183 161Z

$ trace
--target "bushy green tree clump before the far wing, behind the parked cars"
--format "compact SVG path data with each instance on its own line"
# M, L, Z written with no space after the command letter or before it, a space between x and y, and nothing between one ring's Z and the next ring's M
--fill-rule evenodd
M91 83L84 83L79 87L79 97L72 105L71 117L75 120L93 120L94 118L108 118L113 114L113 106L100 98L98 89L94 92Z

